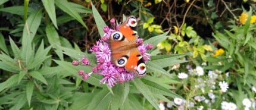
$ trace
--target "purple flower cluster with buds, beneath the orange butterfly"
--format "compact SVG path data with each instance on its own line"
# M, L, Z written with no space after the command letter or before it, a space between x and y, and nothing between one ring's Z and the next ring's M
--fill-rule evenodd
M117 67L115 64L111 62L111 50L108 46L108 39L111 34L115 31L118 31L119 26L115 25L114 18L110 20L111 28L108 26L104 27L104 36L100 40L96 42L92 48L90 48L91 52L95 52L95 56L97 59L96 67L92 68L91 73L85 73L83 70L79 70L79 76L82 76L83 80L86 80L90 77L92 73L101 74L103 78L99 81L101 84L107 84L110 87L113 87L117 83L123 83L123 81L133 80L137 75L135 73L131 73L125 70L124 67ZM144 61L148 61L150 59L150 54L146 53L148 49L152 49L151 44L143 44L143 39L138 38L138 49L141 52ZM73 61L73 65L85 65L90 66L90 62L88 58L85 56L80 61Z

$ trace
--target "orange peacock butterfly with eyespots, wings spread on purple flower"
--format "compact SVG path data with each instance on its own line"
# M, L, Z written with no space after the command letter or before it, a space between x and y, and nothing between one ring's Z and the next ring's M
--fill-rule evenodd
M108 42L111 49L111 62L117 67L124 67L127 71L143 76L146 65L136 43L137 19L133 16L120 25L119 31L111 34Z

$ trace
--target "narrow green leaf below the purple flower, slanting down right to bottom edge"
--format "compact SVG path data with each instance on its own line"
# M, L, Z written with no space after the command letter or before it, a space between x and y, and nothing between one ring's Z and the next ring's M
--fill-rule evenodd
M155 107L155 109L159 110L157 99L154 98L152 92L148 89L148 87L138 78L133 80L133 84L142 93L142 95L148 100L151 105Z

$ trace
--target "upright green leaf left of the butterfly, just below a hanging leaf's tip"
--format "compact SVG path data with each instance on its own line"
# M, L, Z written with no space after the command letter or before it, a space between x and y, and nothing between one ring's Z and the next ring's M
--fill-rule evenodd
M61 46L60 37L59 37L57 31L55 30L55 28L52 25L47 25L46 26L46 36L47 36L47 38L49 40L49 43L54 48L56 48L54 51L57 53L59 58L61 60L64 60L63 54L61 52L61 49L58 48L58 46Z

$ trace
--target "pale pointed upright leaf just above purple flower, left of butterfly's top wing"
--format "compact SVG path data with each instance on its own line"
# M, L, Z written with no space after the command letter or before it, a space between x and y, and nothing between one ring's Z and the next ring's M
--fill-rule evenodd
M99 35L103 37L104 35L103 27L107 25L93 4L92 4L92 14L93 14L93 17L95 18L95 23L98 28Z

